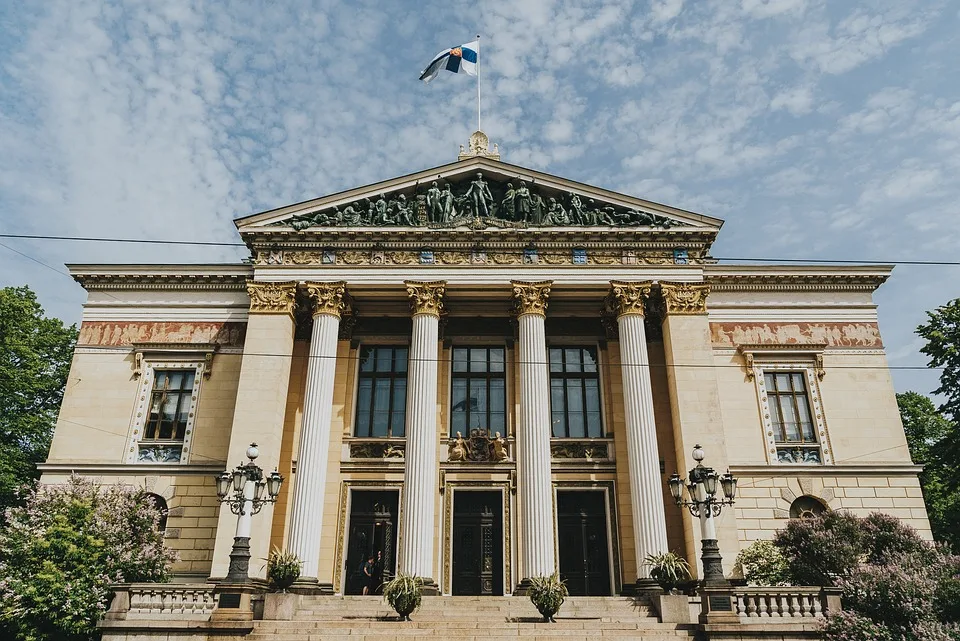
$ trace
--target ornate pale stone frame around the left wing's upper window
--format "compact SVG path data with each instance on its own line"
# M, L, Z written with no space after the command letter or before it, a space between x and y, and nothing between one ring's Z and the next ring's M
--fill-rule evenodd
M150 407L153 402L153 385L157 371L189 371L193 370L193 391L190 396L190 405L187 413L187 424L184 427L183 439L150 439L146 438L146 430L150 420ZM204 359L172 360L163 358L144 358L139 371L140 385L137 390L137 400L134 406L133 420L127 437L127 446L124 449L124 462L134 465L177 465L190 462L190 451L194 437L194 428L197 419L197 406L200 401L200 392L207 363ZM164 447L180 447L179 460L147 460L141 458L141 451L146 447L162 450Z

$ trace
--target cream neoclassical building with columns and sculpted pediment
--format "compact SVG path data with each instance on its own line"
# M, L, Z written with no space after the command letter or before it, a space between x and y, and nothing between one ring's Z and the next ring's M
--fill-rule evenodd
M929 537L872 294L890 267L719 264L722 221L501 162L240 218L235 265L71 265L88 291L43 480L146 487L181 580L223 577L215 475L285 477L253 519L305 586L361 566L501 595L559 570L630 592L696 567L665 481L739 479L725 570L791 517L879 510Z

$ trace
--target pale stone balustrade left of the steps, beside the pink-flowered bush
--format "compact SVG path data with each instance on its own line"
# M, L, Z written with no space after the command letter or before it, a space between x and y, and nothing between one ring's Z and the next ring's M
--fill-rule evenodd
M216 605L206 583L124 583L113 586L108 619L207 620Z

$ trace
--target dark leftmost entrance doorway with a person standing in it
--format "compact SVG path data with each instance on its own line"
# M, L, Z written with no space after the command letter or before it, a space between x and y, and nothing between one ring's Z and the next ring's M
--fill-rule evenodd
M363 594L370 579L363 572L367 558L382 558L374 570L369 594L381 594L384 581L393 578L397 558L397 491L354 490L350 501L349 548L344 567L344 594Z

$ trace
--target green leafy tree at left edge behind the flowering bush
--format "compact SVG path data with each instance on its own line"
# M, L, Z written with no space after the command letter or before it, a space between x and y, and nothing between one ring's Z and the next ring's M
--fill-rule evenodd
M0 515L39 478L76 339L76 326L45 316L29 287L0 289Z

